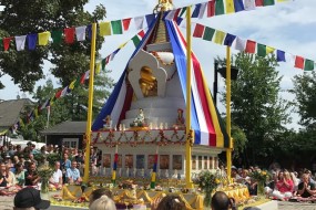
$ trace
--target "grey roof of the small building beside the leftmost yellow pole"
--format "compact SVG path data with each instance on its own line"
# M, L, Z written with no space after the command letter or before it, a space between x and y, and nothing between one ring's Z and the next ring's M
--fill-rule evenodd
M83 135L86 122L63 122L43 132L41 135Z

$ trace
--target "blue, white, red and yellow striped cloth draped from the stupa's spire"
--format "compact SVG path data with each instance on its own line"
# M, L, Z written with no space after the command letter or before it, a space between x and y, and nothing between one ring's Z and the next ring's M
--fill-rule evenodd
M176 22L156 18L149 28L142 42L132 54L130 61L134 55L137 54L140 50L145 51L146 44L150 43L149 40L155 35L155 30L161 21L163 21L165 24L166 35L169 36L172 53L174 54L174 63L180 78L183 98L186 104L186 41ZM195 133L194 145L228 148L228 135L225 126L223 125L218 111L214 105L202 66L193 52L191 53L191 128ZM144 61L144 65L146 61ZM134 92L128 81L126 67L109 99L105 102L100 114L96 116L92 125L92 132L99 132L103 128L103 119L108 115L111 115L114 126L119 125L120 122L125 118L126 112L131 108L132 101L135 99L133 96Z

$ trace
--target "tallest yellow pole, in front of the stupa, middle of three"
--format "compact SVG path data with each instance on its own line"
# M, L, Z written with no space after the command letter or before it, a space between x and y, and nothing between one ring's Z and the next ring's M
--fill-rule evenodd
M186 42L185 185L186 188L193 188L191 180L192 140L194 140L191 134L191 6L186 8Z

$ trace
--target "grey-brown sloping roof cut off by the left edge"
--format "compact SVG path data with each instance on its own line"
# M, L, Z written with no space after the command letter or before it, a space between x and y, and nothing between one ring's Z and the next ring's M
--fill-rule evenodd
M14 125L27 105L33 103L29 98L9 99L0 102L0 129L8 129Z

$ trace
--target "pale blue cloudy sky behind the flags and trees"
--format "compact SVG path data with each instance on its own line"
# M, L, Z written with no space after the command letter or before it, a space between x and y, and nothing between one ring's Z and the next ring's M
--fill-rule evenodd
M188 4L205 2L205 0L173 0L175 8ZM118 20L124 18L134 18L151 13L157 0L91 0L85 9L92 11L96 4L103 4L106 8L106 20ZM316 61L316 1L315 0L296 0L287 3L278 3L273 7L257 8L253 11L243 11L233 14L226 14L213 18L192 19L214 29L218 29L243 39L255 40L259 43L274 46L294 55L302 55L306 59ZM185 32L185 29L183 29ZM130 40L136 31L131 30L123 35L106 36L101 50L102 57L113 52L119 45ZM110 62L109 69L112 70L111 77L118 80L124 70L134 46L128 44L115 59ZM212 42L193 39L193 51L197 55L204 69L208 86L213 90L213 60L216 56L225 56L225 48ZM232 51L237 53L237 51ZM276 71L283 76L282 88L287 90L293 86L292 78L294 75L303 74L302 70L293 67L290 62L282 63ZM47 78L53 78L49 72L49 63L43 66ZM9 76L0 77L6 88L0 91L1 99L13 99L19 93L18 85L14 85ZM54 80L55 87L59 87L58 81ZM44 84L41 80L37 85ZM223 90L224 80L220 80L220 91ZM28 95L28 94L27 94ZM282 93L287 99L294 99L293 95ZM224 106L220 106L220 112L225 112ZM297 115L293 115L293 124L288 127L298 128Z

